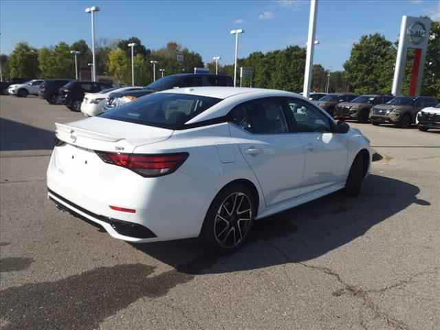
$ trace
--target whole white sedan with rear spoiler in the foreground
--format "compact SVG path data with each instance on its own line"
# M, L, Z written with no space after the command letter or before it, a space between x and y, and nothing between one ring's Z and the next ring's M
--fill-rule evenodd
M238 249L253 221L369 175L369 140L287 91L191 87L56 124L48 197L111 236Z

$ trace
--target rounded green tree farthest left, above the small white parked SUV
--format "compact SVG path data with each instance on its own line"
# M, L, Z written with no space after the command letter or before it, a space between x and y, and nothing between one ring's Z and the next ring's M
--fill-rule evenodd
M28 43L17 43L9 57L11 77L36 78L39 76L38 52Z

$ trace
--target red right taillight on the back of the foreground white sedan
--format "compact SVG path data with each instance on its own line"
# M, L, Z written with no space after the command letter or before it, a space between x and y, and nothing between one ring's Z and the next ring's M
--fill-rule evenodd
M162 155L138 155L135 153L106 153L96 151L106 163L133 170L142 177L160 177L175 172L184 164L188 153L166 153Z

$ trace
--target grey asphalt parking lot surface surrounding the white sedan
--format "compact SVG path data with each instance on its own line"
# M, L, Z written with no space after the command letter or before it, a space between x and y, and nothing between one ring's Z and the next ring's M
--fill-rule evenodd
M47 200L54 122L0 97L1 329L440 329L440 133L350 123L381 155L334 193L256 223L230 256L130 244Z

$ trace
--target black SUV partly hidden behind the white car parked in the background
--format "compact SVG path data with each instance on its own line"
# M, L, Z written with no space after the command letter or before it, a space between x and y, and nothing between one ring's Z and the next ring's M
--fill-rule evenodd
M72 81L58 89L58 94L61 96L61 103L67 108L80 111L85 93L96 93L110 87L110 85L94 81Z

